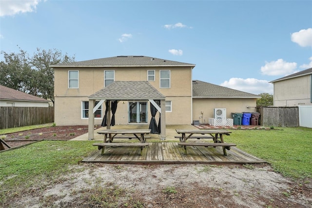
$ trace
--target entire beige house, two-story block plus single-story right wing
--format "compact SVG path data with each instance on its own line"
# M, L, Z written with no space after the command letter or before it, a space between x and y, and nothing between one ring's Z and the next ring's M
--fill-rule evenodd
M95 101L94 105L97 105L101 100L118 100L116 125L148 125L152 118L151 100L165 101L165 124L188 125L194 120L208 123L208 117L214 116L214 108L227 108L228 118L232 118L231 112L253 112L254 108L248 106L255 107L256 99L260 98L210 83L193 82L195 64L146 56L117 56L50 67L55 72L57 125L90 125L89 101ZM141 86L136 87L140 91L137 95L129 87L131 82ZM107 87L111 83L114 85ZM122 88L124 86L128 88ZM148 96L142 86L152 87L153 95ZM115 89L115 97L110 88ZM101 124L105 109L104 103L99 104L94 115L96 125ZM203 118L199 119L200 116ZM156 114L156 121L158 119Z

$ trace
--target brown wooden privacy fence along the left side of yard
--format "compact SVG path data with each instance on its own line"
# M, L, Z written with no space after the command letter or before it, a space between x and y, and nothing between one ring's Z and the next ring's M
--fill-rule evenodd
M0 107L0 129L54 122L54 107Z

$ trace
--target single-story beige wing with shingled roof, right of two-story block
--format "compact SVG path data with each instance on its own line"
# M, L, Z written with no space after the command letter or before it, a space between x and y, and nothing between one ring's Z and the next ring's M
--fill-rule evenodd
M207 124L209 118L214 118L215 108L225 108L226 118L232 118L235 112L255 112L257 98L261 96L195 80L193 120Z

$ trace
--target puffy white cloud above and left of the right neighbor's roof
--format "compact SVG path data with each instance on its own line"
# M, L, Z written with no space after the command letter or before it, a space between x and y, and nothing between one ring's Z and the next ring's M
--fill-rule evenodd
M263 75L289 75L295 72L297 68L296 62L285 62L283 59L277 61L265 62L264 66L261 66L261 73Z

